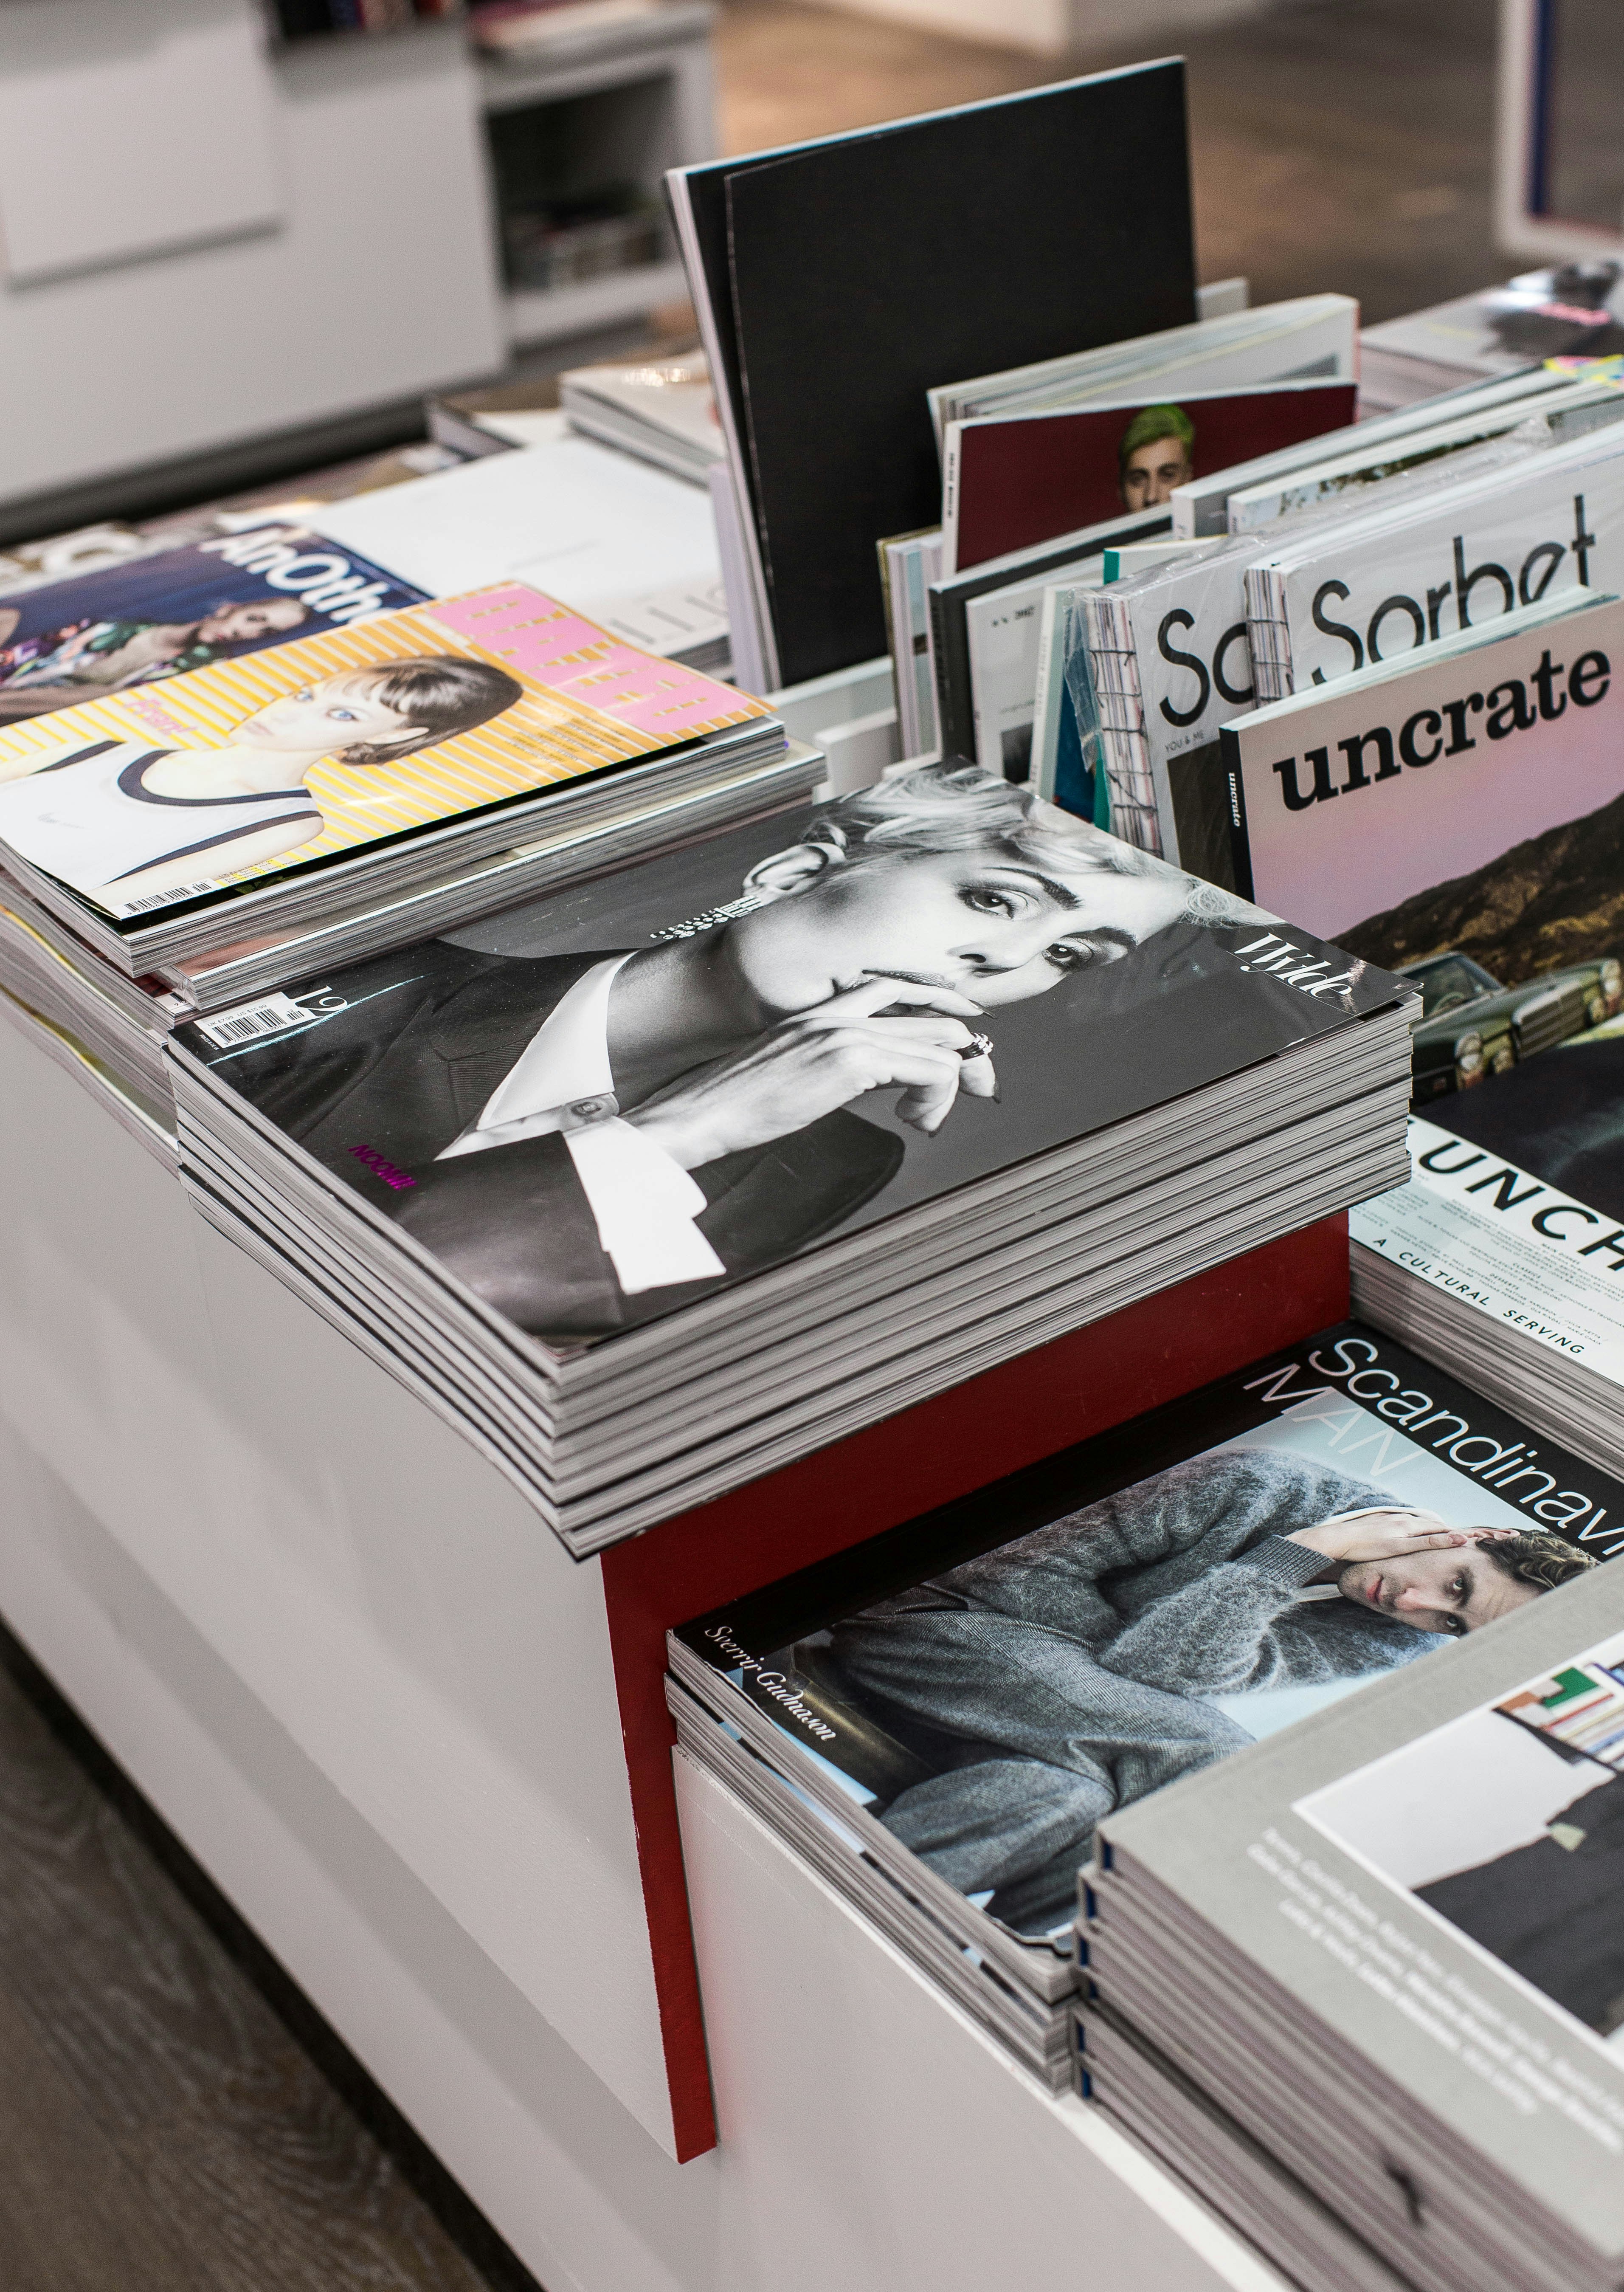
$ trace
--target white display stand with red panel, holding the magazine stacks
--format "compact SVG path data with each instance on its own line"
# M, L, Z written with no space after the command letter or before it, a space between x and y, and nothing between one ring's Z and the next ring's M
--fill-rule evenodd
M1335 1320L1345 1219L577 1565L9 1020L0 1105L0 1614L550 2292L1276 2285L685 1776L705 2056L664 1627Z

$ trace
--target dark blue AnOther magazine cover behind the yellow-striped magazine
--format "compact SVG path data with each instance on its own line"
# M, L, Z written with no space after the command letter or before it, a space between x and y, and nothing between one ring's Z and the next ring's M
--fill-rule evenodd
M421 603L300 525L160 550L0 601L0 724Z

